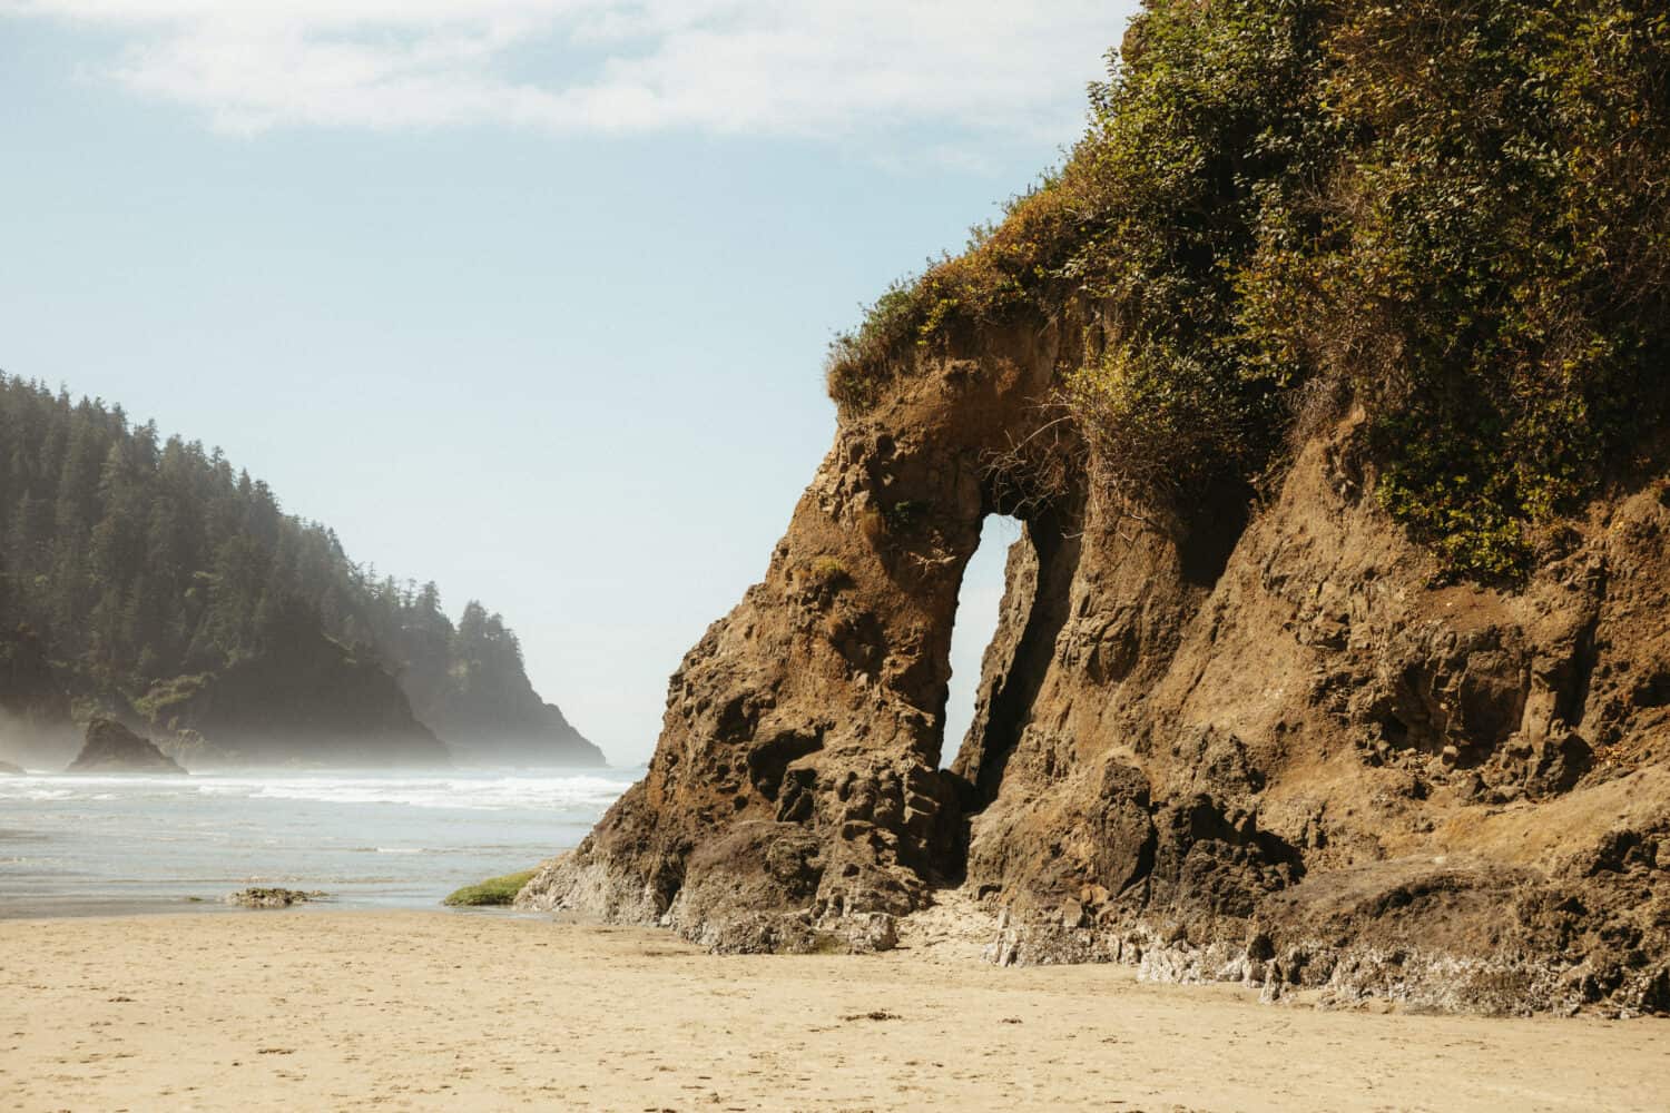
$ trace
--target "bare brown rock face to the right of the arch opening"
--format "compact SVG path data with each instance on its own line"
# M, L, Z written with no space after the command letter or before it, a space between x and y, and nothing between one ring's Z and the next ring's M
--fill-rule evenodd
M1670 831L1650 679L1670 511L1655 491L1598 507L1520 592L1433 587L1353 432L1299 454L1209 591L1092 512L1075 621L970 818L969 884L1009 909L990 958L1268 998L1667 1008L1670 873L1648 861ZM1172 636L1134 619L1159 602Z

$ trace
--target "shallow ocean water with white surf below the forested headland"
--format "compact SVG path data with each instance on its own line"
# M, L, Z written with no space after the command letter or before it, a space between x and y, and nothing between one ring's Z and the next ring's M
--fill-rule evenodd
M0 776L0 918L204 909L249 886L433 908L574 846L640 776Z

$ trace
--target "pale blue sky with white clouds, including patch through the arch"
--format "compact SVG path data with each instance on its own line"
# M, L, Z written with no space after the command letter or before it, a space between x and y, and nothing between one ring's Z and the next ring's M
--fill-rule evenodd
M503 612L636 764L828 449L830 337L1060 162L1132 8L0 0L0 370Z

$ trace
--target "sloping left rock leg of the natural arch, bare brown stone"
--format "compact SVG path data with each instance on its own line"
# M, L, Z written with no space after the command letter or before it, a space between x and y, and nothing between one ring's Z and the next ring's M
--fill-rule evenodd
M950 629L989 461L1054 374L1052 329L842 426L765 582L673 676L645 781L524 906L665 921L720 949L885 939L957 881L940 771Z

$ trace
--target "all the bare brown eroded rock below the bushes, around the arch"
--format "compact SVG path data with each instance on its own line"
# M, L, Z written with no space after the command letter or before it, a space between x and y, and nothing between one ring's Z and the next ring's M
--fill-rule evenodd
M1356 417L1247 519L1005 502L1077 325L969 337L845 421L767 581L534 908L716 949L885 944L959 888L995 961L1129 961L1430 1008L1670 1008L1670 506L1620 494L1523 591L1435 587ZM1017 512L939 771L957 587ZM1660 849L1662 848L1662 849Z

